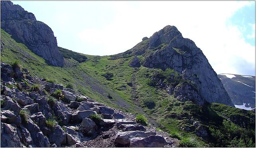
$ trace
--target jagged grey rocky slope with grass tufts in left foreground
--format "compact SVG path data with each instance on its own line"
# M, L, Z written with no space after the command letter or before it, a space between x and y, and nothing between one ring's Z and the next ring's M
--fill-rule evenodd
M14 80L15 78L15 80ZM176 147L134 115L1 63L1 147Z

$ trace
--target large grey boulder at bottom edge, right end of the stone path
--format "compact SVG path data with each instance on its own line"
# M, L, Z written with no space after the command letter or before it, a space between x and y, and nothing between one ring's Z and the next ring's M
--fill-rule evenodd
M134 137L131 139L132 148L162 148L167 142L162 136L148 136L146 138Z

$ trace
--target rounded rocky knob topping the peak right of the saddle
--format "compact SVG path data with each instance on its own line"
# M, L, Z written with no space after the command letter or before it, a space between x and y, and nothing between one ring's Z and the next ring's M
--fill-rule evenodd
M154 49L161 44L168 44L174 37L181 36L175 26L167 25L150 37L149 48Z

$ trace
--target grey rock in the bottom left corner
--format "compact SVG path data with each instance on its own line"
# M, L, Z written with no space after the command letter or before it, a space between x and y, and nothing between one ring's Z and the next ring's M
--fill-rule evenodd
M1 124L1 147L22 147L16 127L6 123Z

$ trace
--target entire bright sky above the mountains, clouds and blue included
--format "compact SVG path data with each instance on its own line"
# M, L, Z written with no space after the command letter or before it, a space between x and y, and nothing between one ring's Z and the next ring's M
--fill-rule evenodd
M12 1L46 23L59 47L114 55L166 25L195 42L217 74L255 76L255 1Z

